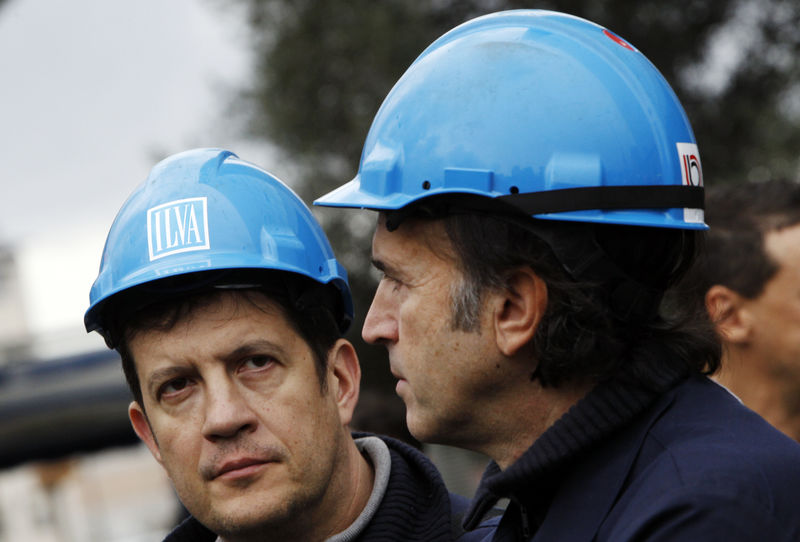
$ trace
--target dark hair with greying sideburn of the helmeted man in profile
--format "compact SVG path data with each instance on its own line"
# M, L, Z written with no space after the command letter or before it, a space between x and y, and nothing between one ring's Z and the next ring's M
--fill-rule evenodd
M441 220L463 275L452 290L455 327L472 329L483 294L507 287L514 268L530 266L544 279L548 305L532 341L532 377L543 385L597 382L626 369L646 383L664 359L686 372L718 368L721 347L707 319L661 307L695 255L696 232L474 212ZM587 246L597 261L584 266L593 259Z

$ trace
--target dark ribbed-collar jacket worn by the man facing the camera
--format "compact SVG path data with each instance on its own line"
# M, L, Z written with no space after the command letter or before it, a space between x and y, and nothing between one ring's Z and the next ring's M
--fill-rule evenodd
M358 542L474 542L491 532L491 521L465 532L461 522L469 504L467 499L448 493L439 471L420 451L398 440L377 436L389 446L392 468L383 500ZM189 517L164 542L213 542L216 538Z

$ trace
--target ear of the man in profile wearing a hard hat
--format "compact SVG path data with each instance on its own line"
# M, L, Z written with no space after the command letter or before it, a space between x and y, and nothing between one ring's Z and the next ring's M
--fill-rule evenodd
M497 346L510 357L533 339L547 309L547 284L523 266L512 271L503 290L491 295Z

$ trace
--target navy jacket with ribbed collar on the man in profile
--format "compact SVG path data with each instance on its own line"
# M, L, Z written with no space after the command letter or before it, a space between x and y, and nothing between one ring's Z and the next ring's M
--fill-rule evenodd
M707 378L670 388L599 386L490 465L466 523L507 497L486 540L800 541L800 445Z

